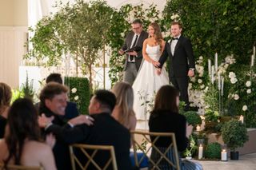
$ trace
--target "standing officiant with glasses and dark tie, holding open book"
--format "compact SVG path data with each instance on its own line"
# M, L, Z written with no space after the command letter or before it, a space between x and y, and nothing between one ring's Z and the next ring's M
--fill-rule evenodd
M132 31L126 35L126 40L119 53L122 55L126 53L126 63L124 66L123 81L126 81L132 85L137 76L138 69L142 63L142 46L148 34L142 30L142 21L135 19L131 24Z

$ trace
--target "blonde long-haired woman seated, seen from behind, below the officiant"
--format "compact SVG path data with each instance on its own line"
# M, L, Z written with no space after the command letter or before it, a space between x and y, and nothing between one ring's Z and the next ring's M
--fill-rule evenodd
M130 84L118 82L111 90L117 98L112 116L129 130L134 130L137 119L134 113L134 91Z

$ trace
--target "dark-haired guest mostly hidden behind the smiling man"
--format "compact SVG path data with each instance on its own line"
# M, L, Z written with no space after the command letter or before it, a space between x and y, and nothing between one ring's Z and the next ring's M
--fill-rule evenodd
M63 84L62 81L62 76L59 73L50 73L50 75L48 77L46 77L46 83L50 83L50 82L56 82L59 84ZM38 105L38 104L37 104ZM43 105L39 105L39 112L43 113L44 112L44 106ZM70 101L66 101L66 109L65 109L65 114L62 117L62 119L64 121L68 121L74 117L78 117L79 113L78 113L78 108L77 105L74 102L70 102Z

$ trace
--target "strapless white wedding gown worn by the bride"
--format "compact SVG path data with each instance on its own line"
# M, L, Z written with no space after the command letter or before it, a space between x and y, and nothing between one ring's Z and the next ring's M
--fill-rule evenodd
M146 45L146 53L154 61L158 61L161 51L160 45ZM162 85L169 85L168 74L162 67L162 73L158 75L154 65L144 61L134 81L134 112L136 113L136 128L148 129L150 111L154 106L154 97Z

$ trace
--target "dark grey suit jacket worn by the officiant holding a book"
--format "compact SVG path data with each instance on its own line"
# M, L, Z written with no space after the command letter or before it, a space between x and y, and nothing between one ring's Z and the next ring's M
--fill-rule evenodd
M138 57L135 57L135 65L137 70L139 69L141 63L142 63L142 47L143 47L143 42L146 38L149 37L149 34L146 33L146 31L142 31L142 33L140 34L139 38L138 38L138 42L136 44L136 46L139 47L140 50L136 51L138 53ZM122 45L122 50L126 50L126 49L130 49L130 45L131 42L133 41L134 38L134 32L130 31L127 35L126 35L126 40L124 42L124 44ZM129 55L126 54L126 63L125 63L125 67L124 70L126 70L126 66L127 66L127 62L128 62L128 57Z

